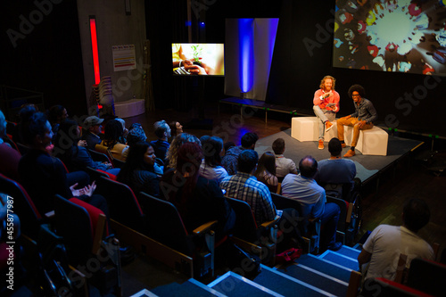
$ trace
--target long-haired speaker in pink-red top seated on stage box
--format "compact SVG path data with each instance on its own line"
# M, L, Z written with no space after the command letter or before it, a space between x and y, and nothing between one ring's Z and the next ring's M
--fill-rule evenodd
M320 81L319 89L314 93L313 111L319 120L318 149L324 149L324 134L332 127L335 120L335 113L339 111L340 96L335 91L336 79L332 76L325 76Z

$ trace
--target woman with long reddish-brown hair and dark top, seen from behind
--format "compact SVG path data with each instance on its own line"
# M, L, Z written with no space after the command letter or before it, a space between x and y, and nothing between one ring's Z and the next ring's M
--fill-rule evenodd
M235 213L217 183L199 175L201 162L200 144L182 144L176 168L169 169L161 177L161 194L177 207L188 232L218 220L216 233L221 237L234 227Z

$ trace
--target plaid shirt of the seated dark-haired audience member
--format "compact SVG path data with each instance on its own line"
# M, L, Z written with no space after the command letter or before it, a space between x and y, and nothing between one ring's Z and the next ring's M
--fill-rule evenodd
M251 206L257 226L276 218L276 206L271 200L268 186L260 183L256 177L244 172L225 177L220 187L226 190L226 196L243 200Z

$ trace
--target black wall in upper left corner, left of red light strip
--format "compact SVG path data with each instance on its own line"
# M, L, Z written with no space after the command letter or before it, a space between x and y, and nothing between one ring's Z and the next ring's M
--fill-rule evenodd
M76 1L54 1L58 2L2 4L0 85L43 92L46 109L62 104L70 115L82 115L87 112L87 100L78 8Z

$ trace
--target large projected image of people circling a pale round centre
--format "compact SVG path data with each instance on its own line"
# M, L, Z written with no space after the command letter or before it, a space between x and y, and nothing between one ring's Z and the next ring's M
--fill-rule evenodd
M446 0L338 0L333 66L446 75Z

